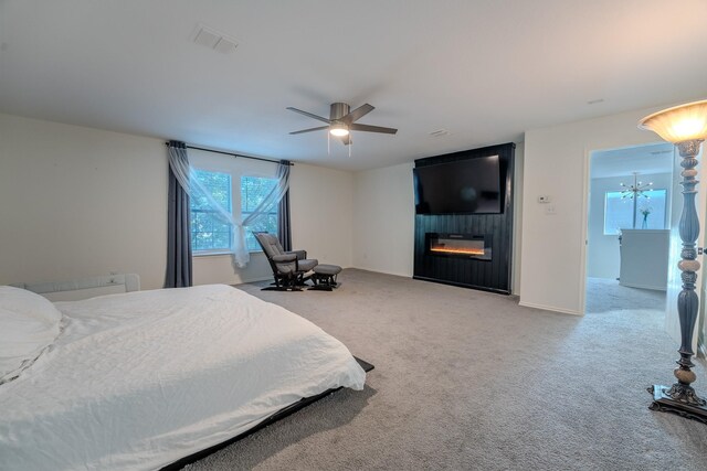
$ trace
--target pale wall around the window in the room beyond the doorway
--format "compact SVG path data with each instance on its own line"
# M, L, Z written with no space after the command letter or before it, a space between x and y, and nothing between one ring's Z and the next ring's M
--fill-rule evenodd
M636 169L641 170L641 169ZM665 228L669 227L669 213L673 195L672 173L641 173L644 182L653 182L653 189L667 190L665 201ZM616 279L621 269L619 235L604 234L604 195L620 191L621 183L632 183L633 175L592 179L590 188L589 227L587 245L587 276ZM631 204L630 202L627 204ZM639 206L641 207L641 206Z

